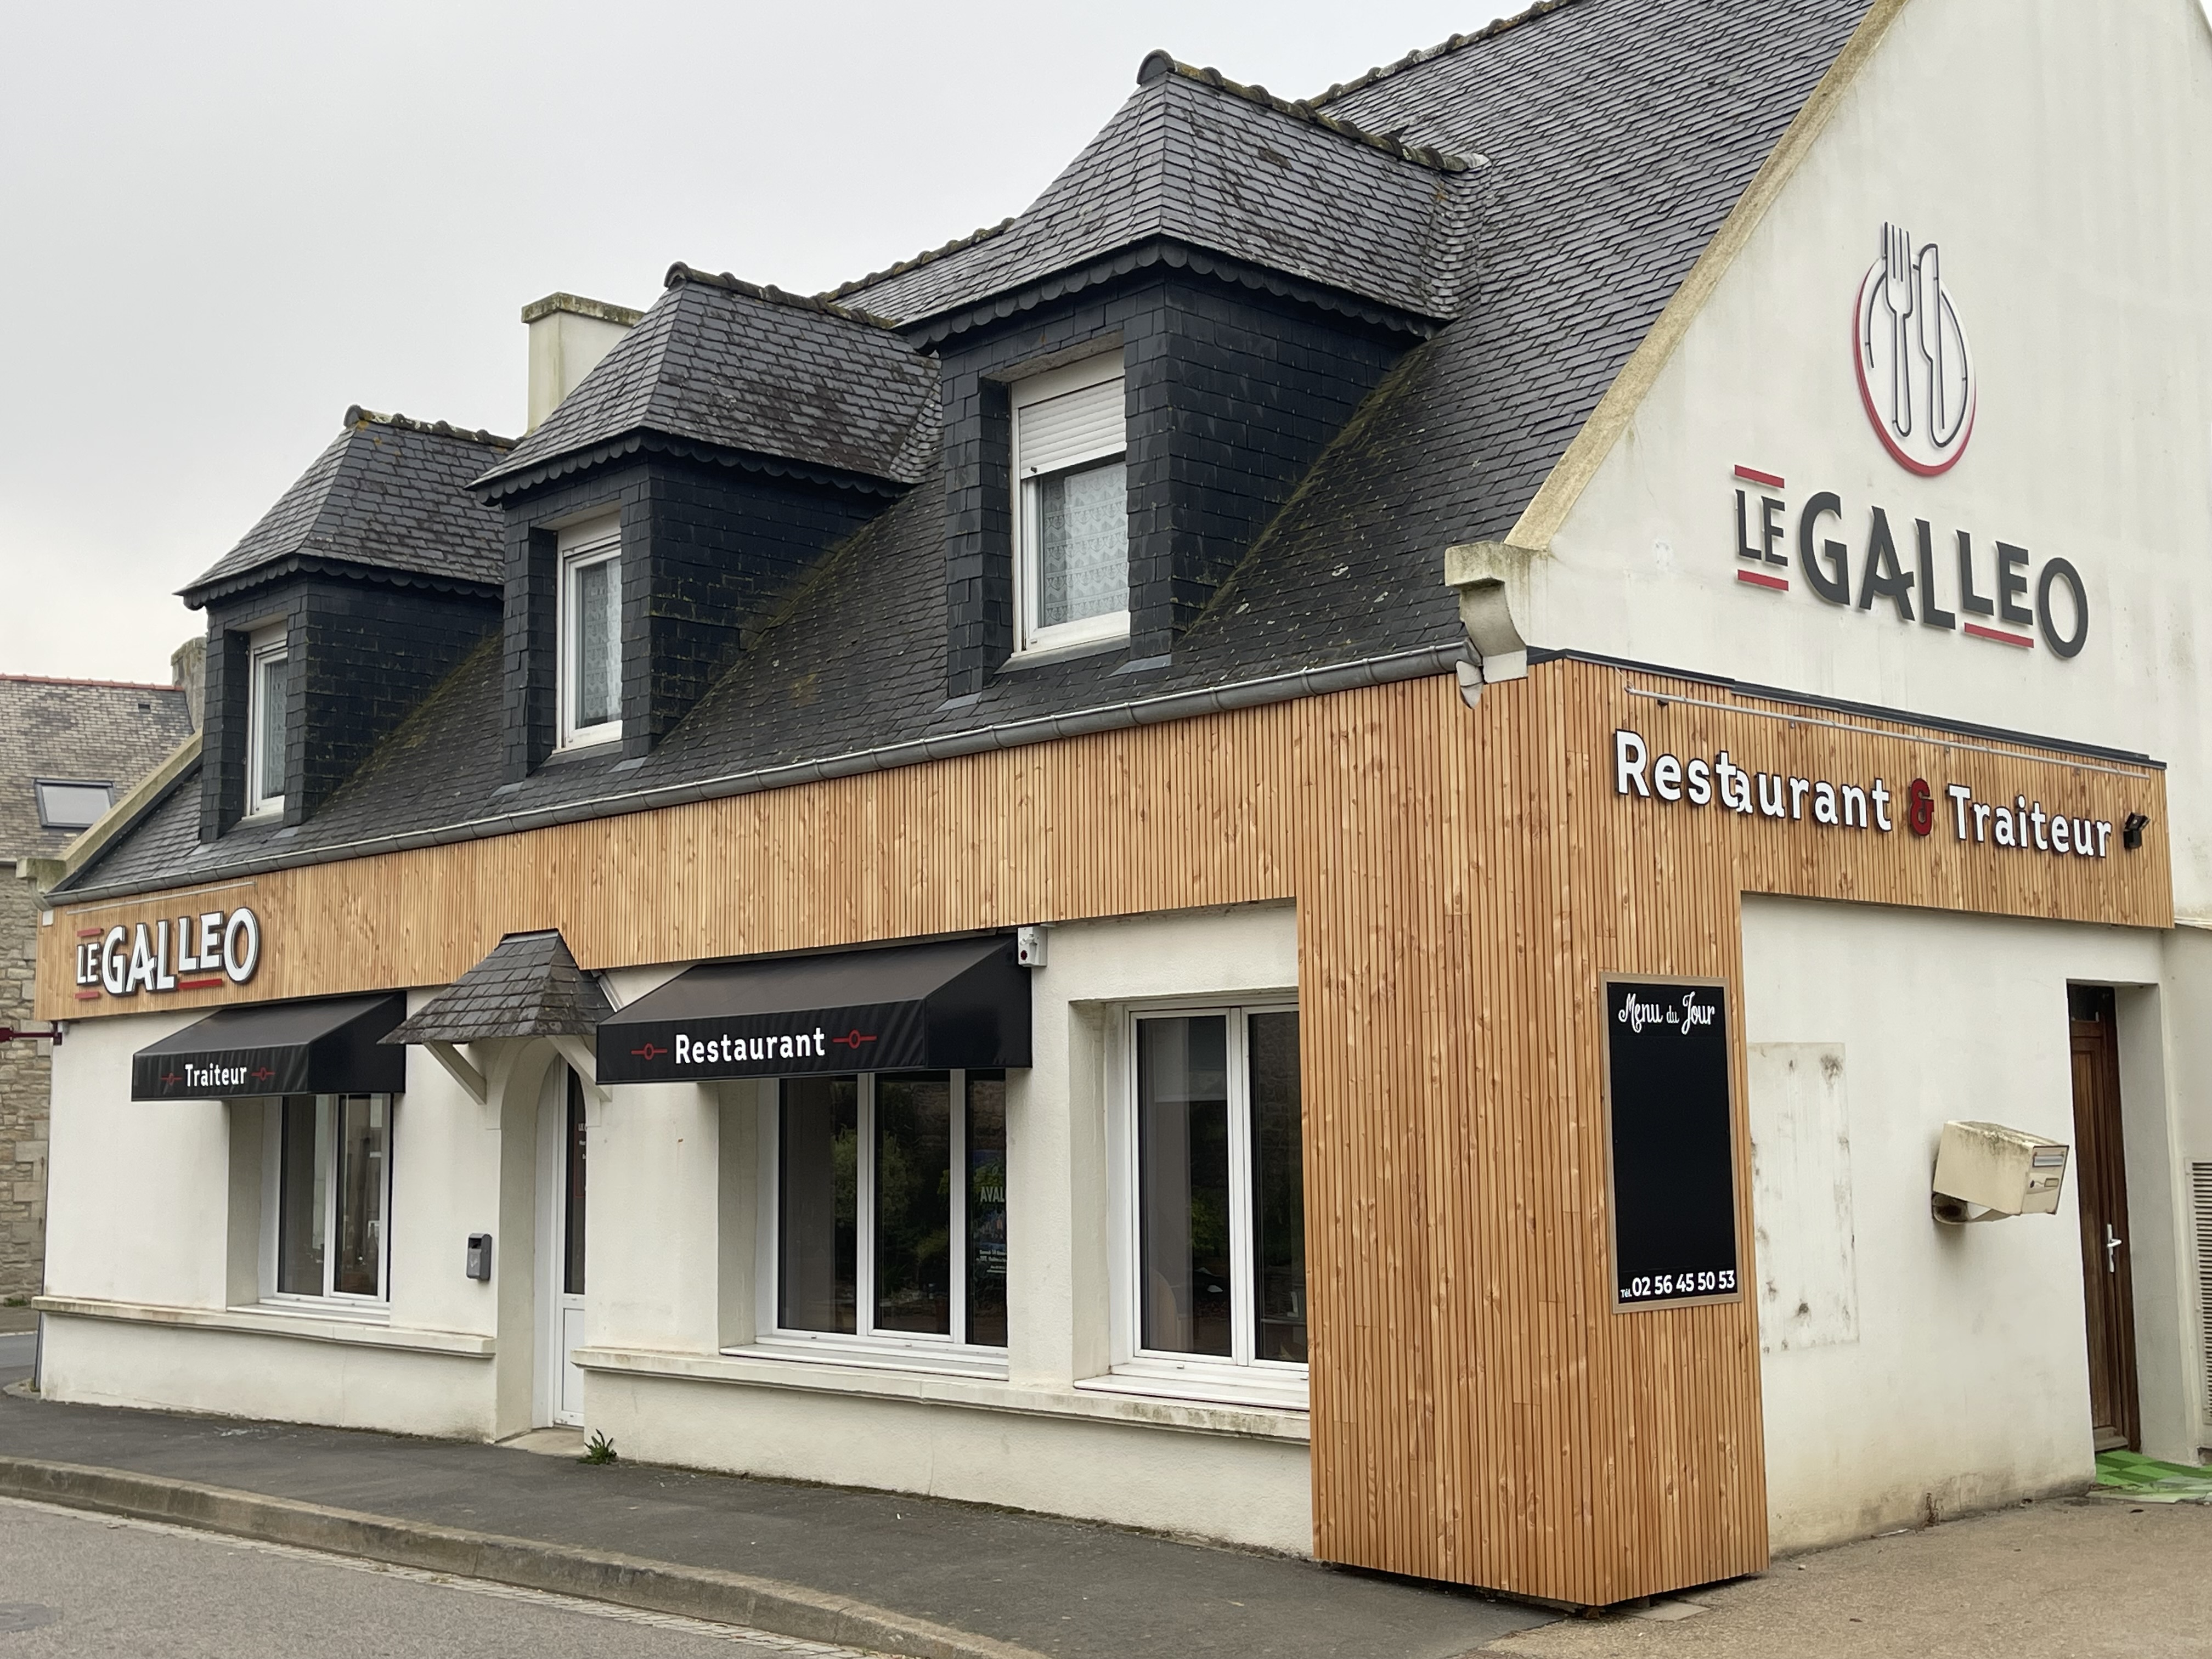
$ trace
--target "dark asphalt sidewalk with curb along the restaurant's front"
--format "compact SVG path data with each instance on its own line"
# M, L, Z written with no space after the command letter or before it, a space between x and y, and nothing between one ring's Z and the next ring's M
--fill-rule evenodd
M1553 1617L927 1498L20 1394L0 1491L931 1659L1458 1659Z

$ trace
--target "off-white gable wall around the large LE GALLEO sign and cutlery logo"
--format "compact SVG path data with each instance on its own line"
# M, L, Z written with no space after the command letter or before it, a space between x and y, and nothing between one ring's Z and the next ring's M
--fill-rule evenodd
M2192 0L1909 0L1528 571L1537 646L1697 668L2170 763L2174 898L2212 920L2212 29ZM1851 312L1887 221L1940 243L1980 403L1964 458L1916 478L1878 442ZM1761 491L1736 465L1785 478ZM1790 582L1736 580L1734 491L1785 502ZM1834 491L1851 604L1812 591L1798 513ZM1995 542L2084 580L2059 659L1860 608L1871 509L1962 613ZM1517 538L1515 538L1517 540ZM1982 622L2000 622L1982 617Z

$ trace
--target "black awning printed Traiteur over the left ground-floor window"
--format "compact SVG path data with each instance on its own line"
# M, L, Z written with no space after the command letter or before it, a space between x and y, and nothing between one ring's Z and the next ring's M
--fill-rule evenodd
M223 1009L131 1055L131 1099L396 1095L407 1051L378 1044L407 998L327 998Z

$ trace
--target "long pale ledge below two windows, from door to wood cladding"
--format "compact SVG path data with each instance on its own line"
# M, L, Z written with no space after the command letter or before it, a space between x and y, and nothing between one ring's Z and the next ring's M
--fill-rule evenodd
M670 1354L661 1349L630 1347L580 1347L575 1365L593 1374L650 1376L681 1383L732 1383L763 1389L792 1389L812 1394L841 1394L847 1398L905 1400L914 1405L942 1405L969 1411L1006 1411L1013 1416L1044 1416L1082 1422L1124 1422L1150 1429L1172 1429L1179 1433L1214 1433L1245 1440L1287 1440L1305 1444L1310 1438L1303 1409L1263 1409L1230 1405L1219 1400L1175 1400L1141 1396L1137 1391L1095 1389L1082 1383L1073 1389L1051 1385L1009 1383L1002 1378L945 1376L938 1371L887 1369L825 1363L818 1358L792 1360L783 1349L754 1345L730 1354Z

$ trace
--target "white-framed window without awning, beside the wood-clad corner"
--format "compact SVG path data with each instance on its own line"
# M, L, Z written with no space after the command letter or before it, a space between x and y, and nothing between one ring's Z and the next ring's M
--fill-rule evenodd
M1133 1022L1133 1358L1305 1367L1296 1009Z

